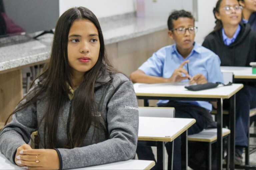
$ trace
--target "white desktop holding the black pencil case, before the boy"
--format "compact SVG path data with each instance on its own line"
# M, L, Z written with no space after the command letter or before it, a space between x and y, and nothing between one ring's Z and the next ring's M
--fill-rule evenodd
M191 97L191 98L223 98L229 99L243 88L243 84L232 84L230 86L219 85L213 89L190 91L185 89L184 83L160 83L143 84L135 83L136 96L151 97Z

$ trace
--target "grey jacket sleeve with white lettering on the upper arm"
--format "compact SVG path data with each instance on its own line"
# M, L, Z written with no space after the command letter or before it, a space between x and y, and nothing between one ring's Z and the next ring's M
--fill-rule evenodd
M57 149L63 169L72 169L132 159L138 138L138 103L131 81L116 88L107 106L110 138L73 149Z

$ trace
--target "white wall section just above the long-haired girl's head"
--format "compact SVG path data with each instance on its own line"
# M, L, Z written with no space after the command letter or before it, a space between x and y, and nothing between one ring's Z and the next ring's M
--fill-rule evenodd
M59 0L60 15L67 9L84 6L97 18L120 15L135 11L134 0Z

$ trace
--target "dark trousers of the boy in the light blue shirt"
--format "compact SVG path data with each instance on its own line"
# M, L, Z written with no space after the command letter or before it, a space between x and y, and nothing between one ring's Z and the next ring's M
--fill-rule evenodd
M192 104L187 104L187 103L178 103L178 102L169 102L168 104L162 105L160 107L174 107L175 118L195 119L196 123L188 129L188 135L199 133L204 128L208 127L204 114L209 114L209 112L202 107L192 105ZM169 142L166 143L165 146L166 146L168 155L170 155L171 153L169 152L171 151L171 148L170 148ZM156 162L151 147L138 146L136 153L139 159L154 160ZM203 156L198 156L197 153L200 153ZM189 144L188 165L191 168L195 168L195 169L201 169L201 167L203 168L204 165L202 164L202 160L204 160L204 158L206 157L204 153L206 152L204 151L202 146L200 145L198 146L194 143ZM215 163L213 163L212 165L215 165ZM154 169L156 169L156 166L154 167ZM173 169L181 169L181 137L180 136L174 140Z

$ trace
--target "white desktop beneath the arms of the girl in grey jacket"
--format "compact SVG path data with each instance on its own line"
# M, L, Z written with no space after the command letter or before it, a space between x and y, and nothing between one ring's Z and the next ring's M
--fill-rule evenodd
M106 170L106 169L151 169L155 165L154 161L144 161L144 160L127 160L127 161L120 161L114 163L108 163L104 165L96 165L78 169L99 169L99 170ZM2 153L0 153L0 169L22 169L20 166L12 164Z

